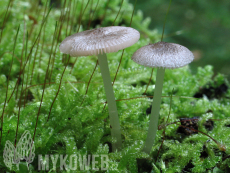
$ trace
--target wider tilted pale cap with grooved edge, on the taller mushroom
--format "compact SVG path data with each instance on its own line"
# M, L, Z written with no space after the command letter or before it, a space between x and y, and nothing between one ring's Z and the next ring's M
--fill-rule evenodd
M117 52L136 43L140 33L130 27L110 26L86 30L66 37L60 51L71 56Z

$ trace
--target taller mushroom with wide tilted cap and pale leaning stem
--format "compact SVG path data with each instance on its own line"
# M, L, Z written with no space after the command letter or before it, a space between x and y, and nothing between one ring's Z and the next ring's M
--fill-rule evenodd
M106 53L117 52L136 43L140 33L130 27L110 26L86 30L64 39L60 51L70 56L97 55L108 102L113 151L121 149L120 123Z

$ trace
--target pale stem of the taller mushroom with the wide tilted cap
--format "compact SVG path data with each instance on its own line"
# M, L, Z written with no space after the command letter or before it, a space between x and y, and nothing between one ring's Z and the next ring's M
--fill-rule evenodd
M116 139L115 143L112 143L112 149L120 150L121 149L121 131L120 131L120 122L117 113L117 106L113 92L113 86L110 78L109 67L107 62L107 56L105 53L98 54L99 66L101 69L101 76L104 83L106 99L109 109L109 120L111 125L111 135Z

